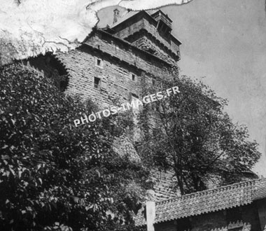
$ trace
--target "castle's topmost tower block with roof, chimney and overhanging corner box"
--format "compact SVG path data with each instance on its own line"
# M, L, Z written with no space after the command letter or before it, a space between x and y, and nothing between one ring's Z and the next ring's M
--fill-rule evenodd
M120 18L116 14L114 22L111 34L177 66L181 42L172 35L172 20L162 10L129 11Z

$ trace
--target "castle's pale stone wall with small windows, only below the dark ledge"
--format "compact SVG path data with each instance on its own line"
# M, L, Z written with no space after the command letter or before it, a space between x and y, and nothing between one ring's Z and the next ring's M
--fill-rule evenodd
M112 97L126 102L130 93L139 94L140 73L101 55L97 50L83 48L57 57L64 62L71 76L67 92L78 93L83 99L91 98L99 107L110 106ZM101 59L102 66L97 66L97 59ZM135 75L135 81L130 77L131 73ZM105 87L95 88L94 77L100 78L101 85L104 83Z

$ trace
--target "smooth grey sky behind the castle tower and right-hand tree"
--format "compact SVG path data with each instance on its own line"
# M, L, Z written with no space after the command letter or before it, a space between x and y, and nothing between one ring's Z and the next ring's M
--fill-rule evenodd
M111 25L114 8L99 11L99 27ZM194 0L161 9L183 43L181 74L205 76L204 83L228 99L225 111L260 144L262 158L253 171L266 177L265 0Z

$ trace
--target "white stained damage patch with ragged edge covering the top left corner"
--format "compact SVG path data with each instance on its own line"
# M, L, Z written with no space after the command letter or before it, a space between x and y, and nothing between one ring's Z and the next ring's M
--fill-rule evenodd
M0 65L11 59L74 49L109 6L149 10L192 0L0 0Z

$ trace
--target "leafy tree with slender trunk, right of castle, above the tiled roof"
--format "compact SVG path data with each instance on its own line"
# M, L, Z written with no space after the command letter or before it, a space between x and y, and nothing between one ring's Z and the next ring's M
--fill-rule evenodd
M232 123L223 111L227 101L202 81L170 70L153 87L145 81L142 85L143 95L179 87L178 94L144 105L140 125L146 131L144 160L173 169L182 195L206 189L207 179L219 186L235 183L260 158L246 126ZM151 125L155 121L156 126Z

